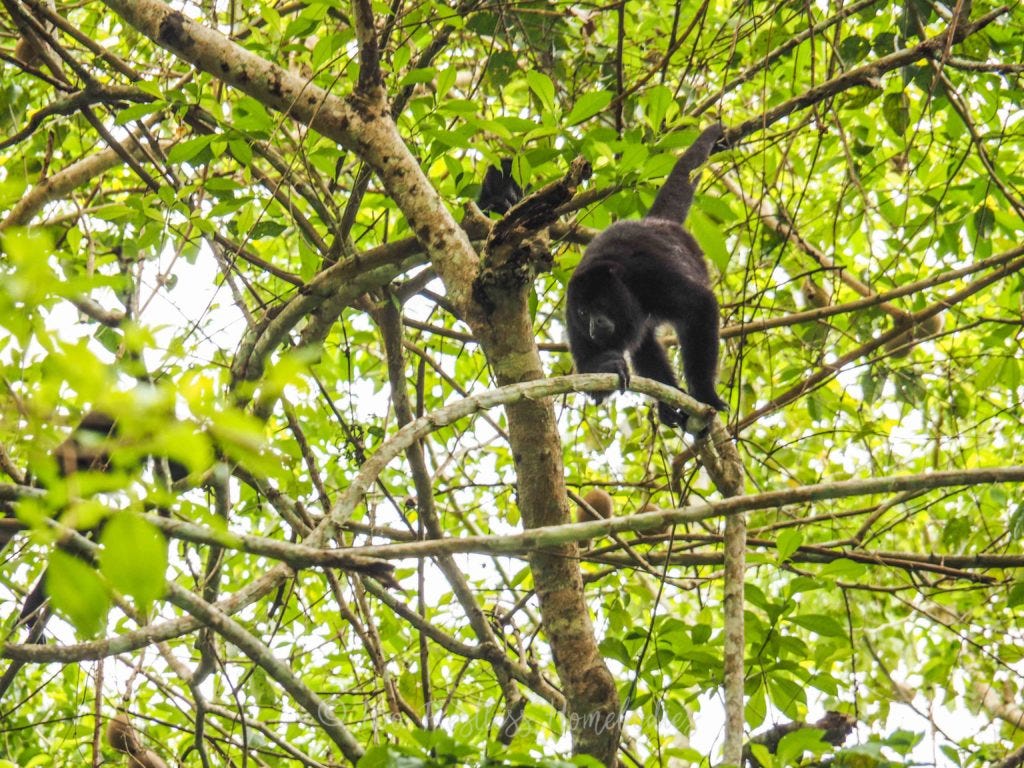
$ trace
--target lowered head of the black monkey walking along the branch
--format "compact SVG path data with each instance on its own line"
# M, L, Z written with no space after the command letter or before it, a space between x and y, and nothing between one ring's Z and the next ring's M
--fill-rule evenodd
M567 321L599 346L629 348L643 332L643 308L623 283L622 271L621 264L599 261L569 281Z

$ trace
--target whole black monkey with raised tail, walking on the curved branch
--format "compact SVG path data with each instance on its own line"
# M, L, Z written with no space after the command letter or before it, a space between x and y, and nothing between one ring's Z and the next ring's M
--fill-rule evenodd
M618 374L625 389L629 353L638 375L678 387L654 338L658 325L671 323L682 346L690 395L717 411L728 409L715 391L718 302L703 252L682 226L693 202L690 174L722 135L719 125L700 134L672 169L645 218L618 221L587 247L567 292L569 348L579 373ZM592 396L600 402L606 395ZM686 428L686 414L665 402L658 403L657 415L663 424Z

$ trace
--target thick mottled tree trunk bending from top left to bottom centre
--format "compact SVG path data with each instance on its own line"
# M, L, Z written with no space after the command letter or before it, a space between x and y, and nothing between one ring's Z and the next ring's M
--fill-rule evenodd
M198 25L160 0L104 0L158 45L354 152L395 201L444 283L447 298L479 338L501 384L542 378L524 285L493 287L494 307L473 295L479 260L468 237L410 153L373 78L341 99ZM366 19L360 27L366 31ZM526 527L568 522L561 441L550 400L507 407ZM615 764L618 698L597 646L574 544L530 558L544 629L565 697L573 752Z

